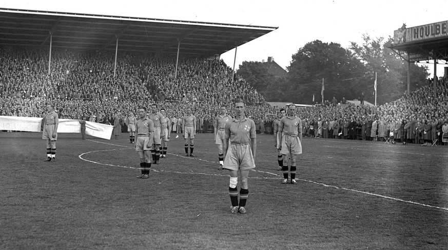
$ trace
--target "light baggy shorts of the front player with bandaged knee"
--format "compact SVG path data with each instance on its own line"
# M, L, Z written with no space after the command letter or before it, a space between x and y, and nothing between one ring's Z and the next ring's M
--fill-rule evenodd
M249 170L255 168L254 156L249 144L230 143L223 169Z

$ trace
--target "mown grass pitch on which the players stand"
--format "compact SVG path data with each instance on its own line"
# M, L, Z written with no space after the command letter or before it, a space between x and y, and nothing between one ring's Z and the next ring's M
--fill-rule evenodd
M282 185L271 135L258 135L247 214L230 214L212 134L196 157L172 136L137 179L119 140L0 132L0 249L446 249L448 147L303 139L298 185Z

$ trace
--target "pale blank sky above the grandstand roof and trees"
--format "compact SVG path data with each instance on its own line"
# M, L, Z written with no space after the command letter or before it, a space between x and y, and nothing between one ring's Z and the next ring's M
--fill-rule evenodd
M403 23L409 28L447 19L446 1L442 0L0 0L0 7L279 27L238 47L236 69L243 61L266 61L269 56L286 69L291 56L316 39L348 48L350 41L362 44L363 34L387 39ZM233 67L234 58L235 49L221 55L229 67ZM434 66L426 65L432 74ZM443 68L438 66L438 76Z

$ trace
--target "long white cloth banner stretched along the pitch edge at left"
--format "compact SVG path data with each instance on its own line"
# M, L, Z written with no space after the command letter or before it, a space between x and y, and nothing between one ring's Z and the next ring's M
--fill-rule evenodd
M27 132L41 132L42 118L0 116L0 130L14 130ZM86 121L86 135L110 140L113 126ZM59 119L57 133L81 133L81 124L78 120Z

